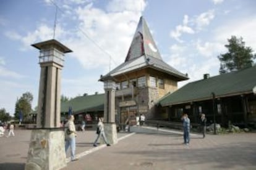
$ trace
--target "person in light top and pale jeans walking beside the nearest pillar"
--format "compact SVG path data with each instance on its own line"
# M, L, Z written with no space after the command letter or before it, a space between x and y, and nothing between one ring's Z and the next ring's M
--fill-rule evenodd
M73 115L69 115L69 121L65 124L65 152L67 154L67 150L70 147L71 161L78 160L75 158L75 137L77 137L77 132L75 131L74 119Z

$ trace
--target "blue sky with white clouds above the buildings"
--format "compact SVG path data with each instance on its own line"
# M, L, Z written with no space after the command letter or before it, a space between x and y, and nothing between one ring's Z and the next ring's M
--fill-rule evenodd
M25 92L36 107L39 51L31 45L53 38L73 51L61 94L103 93L98 79L124 62L140 16L164 62L188 74L178 87L216 76L231 36L256 52L255 7L254 0L0 0L0 108L13 115Z

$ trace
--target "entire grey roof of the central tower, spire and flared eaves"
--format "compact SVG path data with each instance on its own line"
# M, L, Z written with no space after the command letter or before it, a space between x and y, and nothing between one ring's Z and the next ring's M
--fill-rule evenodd
M163 61L145 19L140 17L126 60L105 76L101 76L100 81L143 68L162 71L176 77L178 81L189 79L187 75L184 75Z

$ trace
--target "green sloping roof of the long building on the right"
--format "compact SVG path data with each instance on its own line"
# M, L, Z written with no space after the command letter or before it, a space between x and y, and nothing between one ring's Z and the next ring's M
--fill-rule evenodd
M212 92L215 93L215 97L252 93L252 89L256 86L255 75L256 66L194 81L166 95L159 103L167 106L207 100L212 98Z

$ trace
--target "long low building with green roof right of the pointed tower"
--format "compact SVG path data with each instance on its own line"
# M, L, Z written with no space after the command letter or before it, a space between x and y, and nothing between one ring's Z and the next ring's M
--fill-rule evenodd
M213 77L204 75L163 97L158 103L160 115L168 121L180 121L181 114L187 113L197 123L200 113L205 113L208 123L254 125L255 73L256 66Z

